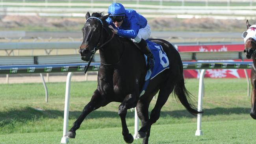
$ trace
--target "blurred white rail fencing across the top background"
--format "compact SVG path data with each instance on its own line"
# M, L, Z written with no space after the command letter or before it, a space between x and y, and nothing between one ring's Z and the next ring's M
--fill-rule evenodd
M67 1L38 1L32 2L29 0L22 0L19 2L7 2L1 0L0 2L0 15L33 15L33 16L56 16L56 17L84 17L87 11L105 11L107 13L108 6L111 2L118 2L116 0L109 0L109 3L102 3L97 1L80 1L67 0ZM120 1L121 2L121 1ZM123 1L122 1L123 2ZM141 3L145 2L141 0ZM156 2L156 1L155 1ZM255 19L254 15L256 6L254 0L158 0L159 4L148 2L147 4L140 4L140 0L136 3L129 4L123 2L126 8L136 9L139 13L147 18L155 17L169 17L169 18L216 18L216 19ZM180 6L167 5L164 2L180 2ZM197 6L187 6L186 2L202 3L204 6L198 4ZM222 6L211 6L210 3L219 3ZM223 5L223 3L226 3ZM236 6L231 6L231 3L240 3ZM244 3L248 3L244 5ZM216 5L216 4L215 4ZM57 8L56 8L57 7ZM86 8L84 8L86 7ZM104 7L104 8L102 8ZM152 14L154 13L154 14ZM215 15L215 16L214 16Z

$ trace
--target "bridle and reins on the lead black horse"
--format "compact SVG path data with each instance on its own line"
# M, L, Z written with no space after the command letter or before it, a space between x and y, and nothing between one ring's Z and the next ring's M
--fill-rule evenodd
M101 20L100 18L98 18L98 17L89 17L89 18L87 18L86 22L87 22L89 19L92 19L92 18L95 18L95 19L97 19L97 20L100 21L101 27L102 27L102 28L101 28L101 36L100 36L100 40L99 40L97 46L95 46L95 47L93 48L93 50L90 51L90 52L93 53L93 54L91 55L90 61L88 62L87 66L86 66L86 68L85 68L85 71L84 71L85 74L86 74L86 72L87 72L87 70L88 70L88 68L89 68L89 66L90 66L90 64L91 64L91 61L93 60L93 56L94 56L94 54L96 53L96 51L99 50L100 48L102 48L102 47L103 47L105 44L107 44L109 41L111 41L111 40L113 39L114 35L115 35L115 33L113 32L111 38L110 38L108 41L104 42L103 44L100 44L101 40L103 39L103 29L106 30L106 28L104 28L104 25L103 25L102 20ZM86 22L85 22L85 23L86 23Z

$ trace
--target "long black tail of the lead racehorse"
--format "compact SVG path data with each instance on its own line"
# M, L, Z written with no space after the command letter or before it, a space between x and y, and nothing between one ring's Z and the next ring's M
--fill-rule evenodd
M193 115L196 115L198 113L203 113L203 111L198 111L197 107L195 107L195 105L191 103L192 94L186 89L183 76L175 85L174 94L178 96L178 99L180 100L182 105L186 107L189 113Z

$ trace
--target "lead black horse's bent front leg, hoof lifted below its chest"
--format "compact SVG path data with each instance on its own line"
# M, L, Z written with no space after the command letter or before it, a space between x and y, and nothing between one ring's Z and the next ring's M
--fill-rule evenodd
M128 94L126 95L126 97L124 98L124 101L121 103L121 105L119 105L119 108L118 108L118 114L122 122L122 135L123 135L124 141L128 144L132 143L134 141L134 138L132 134L129 133L128 127L126 125L125 117L126 117L127 109L135 107L136 102L137 102L136 96L134 94Z

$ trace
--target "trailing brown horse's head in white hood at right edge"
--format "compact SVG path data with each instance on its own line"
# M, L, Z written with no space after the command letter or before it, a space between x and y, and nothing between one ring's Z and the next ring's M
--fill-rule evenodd
M246 21L247 31L244 31L242 37L245 41L246 57L250 59L252 54L256 54L256 25L250 25L248 20Z

